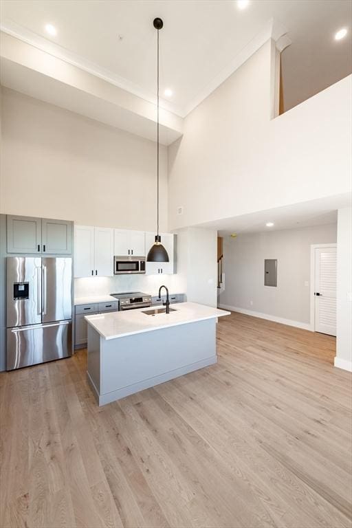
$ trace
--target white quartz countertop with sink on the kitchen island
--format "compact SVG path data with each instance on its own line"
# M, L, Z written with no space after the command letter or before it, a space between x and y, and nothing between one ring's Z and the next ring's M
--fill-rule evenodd
M214 319L230 315L230 311L219 310L197 303L177 303L170 305L175 311L170 314L157 314L148 316L143 312L151 308L117 311L109 314L85 316L85 319L103 338L115 339L132 336L134 333L143 333L160 330L189 322Z

